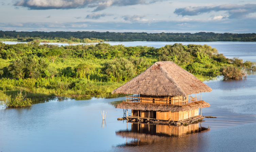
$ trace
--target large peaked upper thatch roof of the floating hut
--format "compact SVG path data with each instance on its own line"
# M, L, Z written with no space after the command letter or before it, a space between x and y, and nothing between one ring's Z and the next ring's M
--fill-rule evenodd
M211 88L172 61L160 61L112 93L186 96L200 92L211 92Z

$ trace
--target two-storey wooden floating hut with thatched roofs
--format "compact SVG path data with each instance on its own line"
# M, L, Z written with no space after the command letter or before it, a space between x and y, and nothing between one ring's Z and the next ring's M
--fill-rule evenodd
M172 61L161 61L112 93L136 94L126 96L126 102L116 106L131 109L129 118L179 121L199 116L199 108L209 107L201 93L210 91L209 86Z

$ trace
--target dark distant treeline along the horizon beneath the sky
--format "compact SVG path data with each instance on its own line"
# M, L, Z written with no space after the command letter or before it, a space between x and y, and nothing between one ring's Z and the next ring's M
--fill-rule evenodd
M79 39L96 38L104 41L156 41L156 42L214 42L214 41L242 41L255 42L256 33L214 33L214 32L199 32L199 33L137 33L137 32L17 32L17 31L2 31L0 37L18 38L18 37L40 37L40 39L53 40L55 37L68 39L75 37Z

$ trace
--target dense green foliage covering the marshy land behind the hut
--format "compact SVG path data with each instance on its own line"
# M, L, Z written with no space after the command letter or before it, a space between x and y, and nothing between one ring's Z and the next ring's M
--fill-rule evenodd
M50 97L111 97L111 92L156 61L173 61L200 80L223 75L242 79L255 63L228 59L208 45L161 48L123 45L58 46L33 41L0 42L0 100L6 103ZM24 91L20 91L20 88ZM17 97L17 92L20 93ZM26 97L24 97L26 95Z

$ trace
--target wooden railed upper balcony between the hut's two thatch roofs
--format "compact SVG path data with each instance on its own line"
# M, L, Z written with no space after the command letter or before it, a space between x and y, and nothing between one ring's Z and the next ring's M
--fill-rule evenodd
M189 95L187 98L178 97L178 99L168 99L168 98L155 98L155 97L143 97L140 95L126 96L126 102L139 102L139 103L160 103L160 104L173 104L173 105L184 105L195 101L201 101L202 95L194 97Z

